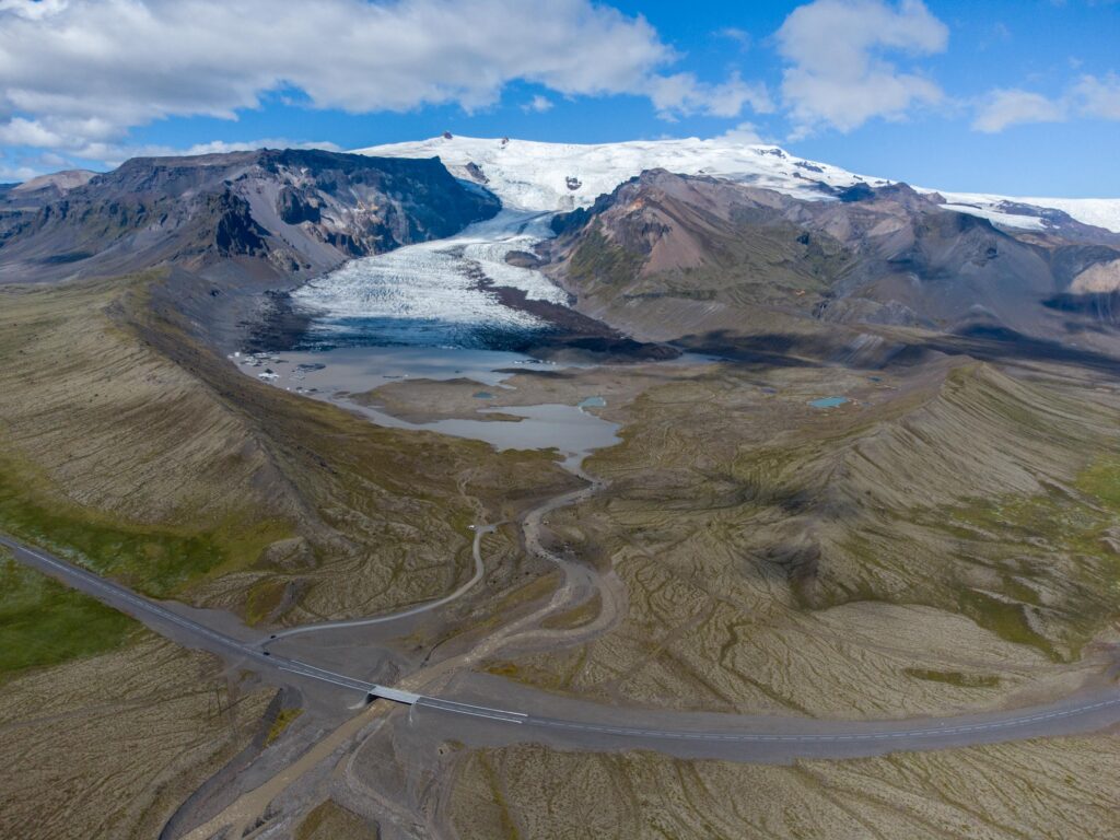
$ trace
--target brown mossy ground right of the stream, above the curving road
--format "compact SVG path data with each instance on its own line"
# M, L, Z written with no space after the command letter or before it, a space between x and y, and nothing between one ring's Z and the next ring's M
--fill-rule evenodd
M867 383L726 365L640 395L623 444L588 460L606 489L549 522L609 558L626 618L492 668L775 713L956 713L1052 690L1117 616L1112 398L959 362ZM810 408L822 393L856 402Z

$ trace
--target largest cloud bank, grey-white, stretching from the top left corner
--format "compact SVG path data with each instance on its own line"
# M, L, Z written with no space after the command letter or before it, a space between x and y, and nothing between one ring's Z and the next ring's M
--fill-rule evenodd
M353 113L483 109L513 81L648 96L666 115L765 101L737 78L665 75L678 58L644 18L590 0L0 0L0 120L87 153L288 92Z

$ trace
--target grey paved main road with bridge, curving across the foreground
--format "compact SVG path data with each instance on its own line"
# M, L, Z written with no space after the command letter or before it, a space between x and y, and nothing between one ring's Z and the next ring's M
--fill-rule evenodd
M502 708L488 698L463 702L427 697L370 683L307 662L271 655L261 651L253 642L241 641L206 627L41 550L28 548L4 536L0 536L0 544L10 548L20 562L132 615L157 633L181 644L226 656L233 655L260 670L287 672L367 696L408 703L413 707L413 711L472 718L478 725L519 730L506 731L501 736L505 740L544 736L545 740L572 746L608 744L664 748L676 754L729 756L736 754L726 748L752 744L768 747L769 752L763 753L764 756L787 760L810 755L839 757L892 749L932 749L1015 740L1091 731L1120 722L1120 689L1116 685L1101 687L1027 709L918 721L842 721L614 709L553 698L543 692L533 693L524 687L508 687L506 690L498 682L493 683L498 688L487 689L489 694L504 691L513 697L530 697L532 700L526 701L526 708L538 708L533 711ZM543 704L547 709L550 703L573 709L579 716L560 718L540 713L539 707ZM642 721L645 721L644 725Z

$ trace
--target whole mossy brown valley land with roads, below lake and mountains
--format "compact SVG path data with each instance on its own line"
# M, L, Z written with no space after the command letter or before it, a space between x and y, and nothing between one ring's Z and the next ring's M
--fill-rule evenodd
M169 282L0 290L0 531L208 651L4 558L0 830L1114 833L1114 370L886 327L838 361L805 321L332 403L236 370ZM497 440L542 404L617 444L564 469L361 414Z

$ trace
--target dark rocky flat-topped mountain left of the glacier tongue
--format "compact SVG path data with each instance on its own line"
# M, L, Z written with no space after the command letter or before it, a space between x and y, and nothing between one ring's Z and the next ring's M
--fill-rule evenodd
M318 150L137 158L88 178L0 198L0 282L104 277L233 260L256 276L307 274L449 236L493 216L493 196L437 160Z

